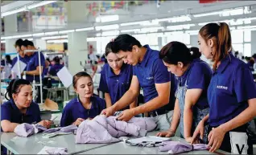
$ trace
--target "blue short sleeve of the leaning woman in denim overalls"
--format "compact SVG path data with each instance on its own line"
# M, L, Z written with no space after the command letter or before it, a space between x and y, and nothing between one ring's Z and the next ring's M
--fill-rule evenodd
M188 89L198 88L206 89L209 85L209 80L212 73L204 69L204 67L197 63L192 67L188 77Z

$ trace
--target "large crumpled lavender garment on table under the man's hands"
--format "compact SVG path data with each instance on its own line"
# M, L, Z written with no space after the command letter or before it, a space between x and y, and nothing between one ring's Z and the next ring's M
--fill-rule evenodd
M143 137L156 127L151 118L134 117L128 122L116 119L117 116L100 115L84 120L77 129L76 143L112 143L128 135Z

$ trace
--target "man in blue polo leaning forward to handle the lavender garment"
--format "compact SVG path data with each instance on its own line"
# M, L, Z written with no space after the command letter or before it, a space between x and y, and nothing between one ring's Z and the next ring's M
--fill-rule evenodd
M167 71L163 61L159 59L159 51L152 50L131 35L118 35L114 39L112 51L133 65L133 78L130 89L114 105L101 113L111 116L137 99L140 87L143 89L145 104L123 111L118 120L128 121L140 113L149 112L155 117L157 129L167 130L175 104L175 76Z

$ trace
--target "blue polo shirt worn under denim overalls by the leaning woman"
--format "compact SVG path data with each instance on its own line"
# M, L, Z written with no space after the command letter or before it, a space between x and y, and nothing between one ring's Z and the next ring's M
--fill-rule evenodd
M178 77L180 86L184 86L187 81L188 89L202 89L203 92L197 100L195 106L204 109L208 108L207 90L213 75L211 67L201 59L194 59L189 65L184 75Z

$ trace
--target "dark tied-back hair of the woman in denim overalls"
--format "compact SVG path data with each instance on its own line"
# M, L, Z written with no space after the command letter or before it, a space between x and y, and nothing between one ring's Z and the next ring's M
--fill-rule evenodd
M197 47L188 48L184 43L171 42L167 43L159 52L160 59L165 63L178 64L178 62L187 65L193 59L200 58L201 54Z

